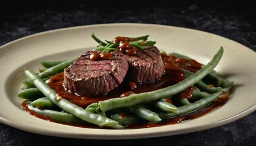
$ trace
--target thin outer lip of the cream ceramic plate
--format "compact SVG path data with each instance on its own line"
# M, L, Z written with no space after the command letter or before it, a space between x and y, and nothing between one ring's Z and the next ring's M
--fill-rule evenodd
M61 32L62 30L72 30L72 29L86 29L87 27L101 27L101 26L104 26L104 27L110 27L110 26L116 26L116 25L123 25L123 26L160 26L160 27L172 27L172 28L176 28L176 29L183 29L183 30L191 30L191 31L195 31L195 32L199 32L199 33L208 33L210 35L215 35L217 37L221 37L221 38L224 38L226 40L229 40L229 41L233 41L233 40L230 40L229 38L225 38L224 36L219 36L219 35L216 35L214 33L209 33L209 32L204 32L202 30L195 30L195 29L189 29L189 28L185 28L185 27L177 27L177 26L166 26L166 25L162 25L162 24L138 24L138 23L108 23L108 24L90 24L90 25L85 25L85 26L74 26L74 27L66 27L66 28L60 28L60 29L54 29L54 30L47 30L47 31L44 31L44 32L38 32L38 33L34 33L34 34L31 34L31 35L28 35L28 36L24 36L22 38L18 38L16 40L13 40L13 41L10 41L9 43L6 43L2 46L0 46L0 51L4 48L4 47L8 47L10 45L12 45L13 43L18 43L19 41L23 41L23 40L26 40L26 39L29 39L29 38L33 38L34 36L38 36L38 35L47 35L48 33L55 33L55 32ZM233 41L234 43L237 43L236 41ZM240 43L237 43L237 44L240 44ZM244 46L243 44L240 44L242 46ZM246 47L246 46L244 46ZM248 47L246 47L248 48ZM254 50L252 49L249 49L248 48L248 51L252 51L254 52ZM255 52L254 52L255 53ZM1 99L0 99L1 100ZM251 114L252 112L254 112L256 110L256 105L255 106L252 106L248 109L246 109L245 111L241 112L240 114L236 114L236 116L233 116L233 117L230 117L230 119L224 119L222 121L219 121L219 122L216 122L216 123L212 123L212 125L208 125L208 128L205 128L205 127L197 127L196 129L192 130L190 129L190 133L191 132L195 132L195 131L201 131L201 130L206 130L206 129L209 129L209 128L214 128L214 127L219 127L221 125L225 125L226 123L230 123L230 122L233 122L235 120L238 120L238 119L241 119L242 117L244 116L247 116L248 114ZM1 114L1 112L0 112ZM30 133L36 133L36 134L42 134L40 133L40 131L33 131L33 130L27 130L26 127L20 127L20 125L17 125L16 122L14 121L9 121L8 119L2 117L0 115L0 122L6 124L6 125L9 125L11 127L14 127L14 128L18 128L20 130L24 130L24 131L28 131ZM180 124L180 123L179 123ZM100 130L102 131L102 130ZM104 131L104 130L103 130ZM113 131L113 130L112 130ZM126 131L134 131L134 130L126 130ZM46 132L46 131L45 131ZM154 134L151 134L151 135L148 135L148 134L133 134L133 135L126 135L126 137L124 136L120 136L121 133L116 133L116 134L109 134L109 135L104 135L101 136L101 139L137 139L137 138L146 138L146 137L159 137L159 136L171 136L171 135L174 135L174 134L183 134L183 133L187 133L186 131L179 131L179 133L171 133L169 134L168 133L169 131L165 131L163 133L154 133ZM50 134L47 134L47 133L43 133L43 134L46 134L46 135L50 135L50 136L56 136L56 132L55 131L51 131ZM155 134L157 134L158 136L156 136ZM63 133L63 134L59 134L58 136L60 137L73 137L73 138L83 138L83 139L99 139L98 135L87 135L86 137L84 135L80 135L80 134L75 134L73 133L73 135L66 135L66 133Z

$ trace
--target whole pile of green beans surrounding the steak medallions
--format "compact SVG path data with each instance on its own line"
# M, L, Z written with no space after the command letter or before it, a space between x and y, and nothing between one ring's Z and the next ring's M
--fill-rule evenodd
M101 41L99 43L104 45ZM233 85L232 81L219 77L213 71L223 53L224 49L221 47L212 60L197 72L183 69L185 78L175 85L151 92L104 100L93 103L85 109L59 97L47 84L51 75L62 72L76 58L43 61L41 65L44 68L39 69L40 73L25 69L27 78L23 80L24 86L17 96L28 101L26 104L31 111L62 123L93 123L99 128L113 129L126 128L129 123L160 123L171 117L182 116L207 106L221 96L224 88ZM185 57L176 53L172 55ZM214 87L209 88L208 84ZM194 86L191 98L177 98L176 94L190 86ZM166 98L171 99L172 103L167 102Z

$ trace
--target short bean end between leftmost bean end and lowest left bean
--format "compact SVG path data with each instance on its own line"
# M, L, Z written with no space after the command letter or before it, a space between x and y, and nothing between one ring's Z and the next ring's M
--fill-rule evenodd
M37 106L43 109L54 109L57 107L47 97L41 97L40 99L34 100L30 103L30 105Z

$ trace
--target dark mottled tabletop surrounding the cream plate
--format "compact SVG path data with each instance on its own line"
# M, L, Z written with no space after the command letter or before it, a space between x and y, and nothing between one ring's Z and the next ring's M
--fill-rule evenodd
M215 33L256 51L256 8L252 1L10 0L5 3L0 5L0 46L23 36L64 27L150 23ZM235 122L209 130L129 140L44 136L0 123L0 145L256 145L255 121L254 111Z

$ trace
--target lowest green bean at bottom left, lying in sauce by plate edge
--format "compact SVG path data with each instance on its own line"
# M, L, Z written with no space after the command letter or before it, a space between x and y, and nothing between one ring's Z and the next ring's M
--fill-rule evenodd
M76 116L73 116L73 114L60 112L60 111L54 111L51 109L38 109L37 107L34 107L32 105L27 105L27 108L29 108L31 111L34 111L37 114L40 114L43 117L48 117L49 119L55 120L56 122L60 123L77 123L77 124L86 124L84 120L81 120L77 118Z

